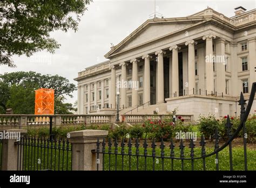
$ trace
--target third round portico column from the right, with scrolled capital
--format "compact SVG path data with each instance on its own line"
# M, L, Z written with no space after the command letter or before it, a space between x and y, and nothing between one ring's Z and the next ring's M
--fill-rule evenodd
M176 93L179 96L179 61L178 61L178 50L180 47L177 45L169 48L172 51L172 96Z

